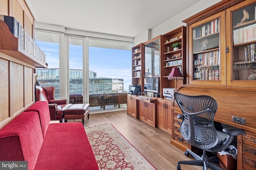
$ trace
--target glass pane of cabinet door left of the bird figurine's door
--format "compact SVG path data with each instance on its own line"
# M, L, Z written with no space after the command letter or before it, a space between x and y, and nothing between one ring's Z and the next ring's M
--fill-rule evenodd
M193 28L193 80L220 80L220 18Z

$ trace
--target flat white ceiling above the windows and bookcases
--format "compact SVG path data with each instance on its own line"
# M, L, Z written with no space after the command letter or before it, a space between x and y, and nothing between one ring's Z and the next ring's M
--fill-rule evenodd
M26 0L36 22L136 37L200 0Z

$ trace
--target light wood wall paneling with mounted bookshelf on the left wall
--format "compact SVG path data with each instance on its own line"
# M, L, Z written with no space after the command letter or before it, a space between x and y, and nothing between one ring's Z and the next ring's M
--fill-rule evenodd
M0 14L14 17L27 35L34 37L34 17L25 0L1 0ZM0 129L34 103L35 69L47 68L45 60L38 61L31 50L22 48L21 42L24 41L20 41L20 37L15 37L13 33L0 20L0 94L5 98L0 102ZM32 49L34 42L28 44Z

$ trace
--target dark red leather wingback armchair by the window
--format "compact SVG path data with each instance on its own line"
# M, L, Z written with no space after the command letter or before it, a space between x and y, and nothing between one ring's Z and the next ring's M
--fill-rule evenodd
M36 87L36 101L48 102L51 120L64 119L64 110L72 104L67 104L66 99L54 99L54 87Z

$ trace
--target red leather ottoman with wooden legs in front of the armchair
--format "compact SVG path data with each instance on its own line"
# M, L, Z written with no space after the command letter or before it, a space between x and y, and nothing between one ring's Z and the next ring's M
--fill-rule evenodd
M90 104L72 104L64 110L64 120L68 122L70 119L82 119L84 125L84 118L87 116L89 119Z

